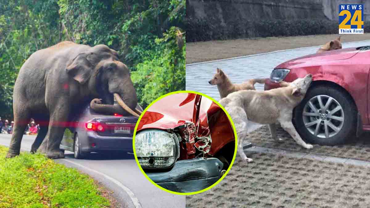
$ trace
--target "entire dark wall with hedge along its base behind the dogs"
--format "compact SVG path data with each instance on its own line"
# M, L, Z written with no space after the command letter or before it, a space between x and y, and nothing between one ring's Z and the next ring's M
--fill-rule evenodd
M370 0L186 0L186 19L189 27L196 27L197 36L211 30L210 39L263 37L266 33L261 32L261 27L269 30L272 25L276 30L274 21L283 22L290 27L288 30L296 30L293 28L295 25L318 28L317 32L310 31L308 34L335 33L338 5L341 3L364 4L364 19L370 20ZM235 27L240 28L236 31ZM220 34L215 36L216 33ZM295 34L294 31L291 34ZM190 41L197 41L195 39ZM206 40L199 40L203 39Z

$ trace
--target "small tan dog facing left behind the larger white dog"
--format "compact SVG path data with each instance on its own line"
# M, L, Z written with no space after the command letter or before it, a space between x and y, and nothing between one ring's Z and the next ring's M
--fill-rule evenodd
M266 79L250 79L242 84L233 84L229 80L228 76L219 68L217 73L213 75L213 78L208 81L209 84L217 85L218 92L221 98L228 96L228 94L239 91L239 90L256 90L254 85L256 83L265 84Z

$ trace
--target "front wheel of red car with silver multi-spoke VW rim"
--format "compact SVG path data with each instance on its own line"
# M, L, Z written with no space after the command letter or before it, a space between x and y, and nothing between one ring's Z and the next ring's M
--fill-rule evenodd
M340 88L310 89L293 113L298 133L313 144L343 144L356 129L356 105Z

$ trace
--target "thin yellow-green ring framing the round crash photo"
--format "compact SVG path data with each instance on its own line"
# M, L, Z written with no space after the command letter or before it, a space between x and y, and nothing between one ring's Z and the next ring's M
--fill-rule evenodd
M193 94L198 94L198 95L202 95L202 96L204 96L204 97L206 97L206 98L208 98L208 99L212 100L213 102L215 102L219 107L221 107L221 109L225 112L225 114L226 114L226 115L227 115L227 117L229 118L229 121L230 121L230 123L231 123L231 125L232 125L232 127L233 127L234 135L235 135L235 150L234 150L234 156L233 156L233 158L232 158L232 161L231 161L231 164L230 164L230 166L229 166L228 170L226 170L226 173L225 173L225 174L223 174L223 176L222 176L218 181L216 181L214 184L212 184L212 185L210 185L209 187L204 188L204 189L202 189L202 190L200 190L200 191L195 191L195 192L181 193L181 192L170 191L170 190L168 190L168 189L165 189L165 188L161 187L160 185L158 185L158 184L157 184L157 183L155 183L154 181L152 181L152 180L148 177L148 175L144 172L144 170L141 168L141 165L139 164L139 160L138 160L138 158L137 158L136 150L135 150L135 136L136 136L136 131L137 131L137 128L138 128L139 122L140 122L140 120L141 120L142 116L144 115L144 113L145 113L145 112L146 112L146 111L147 111L147 110L148 110L148 109L149 109L149 108L150 108L154 103L156 103L157 101L161 100L162 98L167 97L167 96L172 95L172 94L178 94L178 93L193 93ZM139 119L138 119L138 121L137 121L137 123L136 123L136 125L135 125L134 135L132 136L132 148L133 148L133 150L134 150L135 161L136 161L136 163L137 163L137 165L138 165L138 167L139 167L140 171L142 172L142 174L144 174L145 178L147 178L147 179L148 179L152 184L154 184L154 185L155 185L156 187L158 187L159 189L162 189L163 191L169 192L169 193L171 193L171 194L176 194L176 195L194 195L194 194L200 194L200 193L202 193L202 192L205 192L205 191L207 191L207 190L209 190L209 189L211 189L211 188L215 187L219 182L221 182L221 181L223 180L223 178L225 178L225 177L226 177L226 175L227 175L227 174L229 173L229 171L231 170L231 167L232 167L232 165L234 164L234 161L235 161L237 147L238 147L238 137L237 137L237 135L236 135L235 125L234 125L234 123L233 123L233 121L232 121L232 119L231 119L231 117L230 117L229 113L225 110L225 108L224 108L224 107L223 107L223 106L222 106L218 101L216 101L215 99L213 99L213 98L209 97L208 95L203 94L203 93L199 93L199 92L196 92L196 91L191 91L191 90L174 91L174 92L171 92L171 93L168 93L168 94L162 95L161 97L159 97L159 98L155 99L151 104L149 104L149 105L148 105L148 107L146 107L146 108L144 109L144 111L142 111L142 114L140 115L140 117L139 117Z

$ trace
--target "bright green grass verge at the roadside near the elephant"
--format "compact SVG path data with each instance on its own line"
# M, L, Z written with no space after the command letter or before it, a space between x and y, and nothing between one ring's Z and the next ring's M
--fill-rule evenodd
M0 208L110 207L88 175L40 154L6 159L7 150L0 146Z

